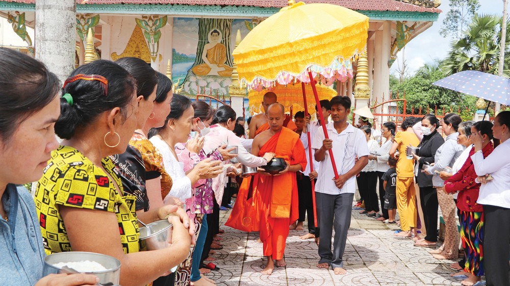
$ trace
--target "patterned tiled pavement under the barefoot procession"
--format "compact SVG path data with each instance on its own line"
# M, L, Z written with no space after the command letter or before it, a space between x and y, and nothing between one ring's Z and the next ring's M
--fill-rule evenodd
M218 286L431 286L460 285L450 277L448 264L433 258L426 248L415 247L410 239L393 237L396 225L388 225L352 211L345 249L345 275L319 269L317 246L313 240L302 241L305 231L291 230L285 249L287 267L276 268L272 275L262 275L265 266L258 233L246 233L224 226L230 211L221 211L223 249L212 256L219 271L207 277ZM305 229L306 224L305 224Z

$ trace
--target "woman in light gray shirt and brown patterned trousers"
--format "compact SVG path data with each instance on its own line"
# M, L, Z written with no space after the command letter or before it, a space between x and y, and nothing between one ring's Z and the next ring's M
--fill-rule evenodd
M425 173L432 175L432 184L437 190L439 207L445 221L445 240L444 244L437 250L430 253L436 259L456 259L458 257L458 230L455 221L455 202L453 197L444 190L444 180L439 173L446 167L453 167L455 160L461 155L464 146L457 143L458 124L462 122L462 118L455 113L448 113L443 118L443 133L446 140L436 151L434 157L434 165L425 169Z

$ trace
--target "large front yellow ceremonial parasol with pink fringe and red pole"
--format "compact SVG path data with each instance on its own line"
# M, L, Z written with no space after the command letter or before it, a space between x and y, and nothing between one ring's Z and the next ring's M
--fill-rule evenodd
M262 21L246 35L233 52L241 83L249 89L260 90L276 83L288 85L300 81L305 116L308 105L305 83L312 83L318 110L320 99L316 80L330 85L335 80L352 78L352 61L366 49L368 17L347 8L331 4L295 3ZM281 97L278 96L278 100ZM259 101L260 102L260 101ZM322 112L319 112L326 139L327 131ZM308 142L310 144L310 133ZM335 178L338 171L333 151L328 150ZM310 162L312 151L309 148ZM313 165L310 166L313 171ZM315 225L314 181L312 199Z

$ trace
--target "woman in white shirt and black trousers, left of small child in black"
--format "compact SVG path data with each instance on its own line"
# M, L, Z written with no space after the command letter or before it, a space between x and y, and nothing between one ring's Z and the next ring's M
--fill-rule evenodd
M382 186L382 175L384 175L384 173L390 168L390 166L388 166L388 159L390 158L390 149L393 145L392 138L395 135L395 128L396 125L394 122L385 122L382 124L382 137L384 137L386 141L379 147L379 149L377 149L376 154L368 155L368 160L377 161L376 173L379 178L379 200L382 210L382 215L377 218L378 221L385 221L389 218L388 210L384 208L384 196L386 195L386 192Z

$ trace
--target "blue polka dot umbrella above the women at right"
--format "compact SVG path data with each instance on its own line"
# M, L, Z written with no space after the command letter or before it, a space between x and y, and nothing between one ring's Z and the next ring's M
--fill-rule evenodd
M454 73L433 85L481 97L486 100L510 105L510 82L502 76L477 70Z

